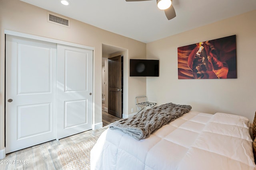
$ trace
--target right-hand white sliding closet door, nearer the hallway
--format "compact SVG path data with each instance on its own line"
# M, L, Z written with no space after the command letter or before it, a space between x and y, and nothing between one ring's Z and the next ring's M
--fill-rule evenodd
M92 129L93 51L57 45L57 139Z

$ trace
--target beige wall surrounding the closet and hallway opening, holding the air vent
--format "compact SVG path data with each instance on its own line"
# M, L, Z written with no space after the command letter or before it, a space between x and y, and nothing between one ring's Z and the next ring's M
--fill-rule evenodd
M124 59L126 84L128 84L124 98L124 113L129 114L134 104L136 89L145 89L146 79L132 80L128 76L129 58L146 57L146 44L121 35L117 35L92 25L76 20L70 20L70 28L47 22L47 11L21 2L19 0L0 0L0 150L4 148L4 29L59 39L81 45L94 47L94 116L93 123L102 122L101 74L102 74L102 44L113 45L127 49L128 55ZM88 16L90 17L90 16ZM138 83L137 83L138 82ZM145 90L146 93L146 90ZM131 102L132 101L132 102ZM129 111L128 111L129 110Z

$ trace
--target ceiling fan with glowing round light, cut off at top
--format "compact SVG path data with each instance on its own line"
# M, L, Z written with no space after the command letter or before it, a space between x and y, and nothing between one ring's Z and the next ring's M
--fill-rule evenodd
M126 2L132 1L146 1L146 0L126 0ZM168 20L176 17L175 10L172 6L172 0L156 0L157 6L160 10L164 10L164 13Z

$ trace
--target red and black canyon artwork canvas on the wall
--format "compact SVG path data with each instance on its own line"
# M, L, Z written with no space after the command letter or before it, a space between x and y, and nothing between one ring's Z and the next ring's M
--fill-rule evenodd
M236 35L178 47L178 79L237 78Z

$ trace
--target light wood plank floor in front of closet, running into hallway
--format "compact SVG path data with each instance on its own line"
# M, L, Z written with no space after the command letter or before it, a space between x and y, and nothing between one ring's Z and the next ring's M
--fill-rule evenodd
M104 102L102 107L104 107ZM116 120L119 120L119 118L102 111L103 128L85 131L77 135L60 139L59 141L49 141L6 154L6 158L0 160L0 170L62 170L57 155L59 150L100 135L108 128L108 124ZM15 164L16 161L19 162Z

